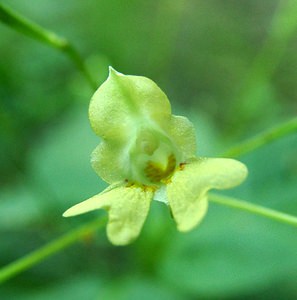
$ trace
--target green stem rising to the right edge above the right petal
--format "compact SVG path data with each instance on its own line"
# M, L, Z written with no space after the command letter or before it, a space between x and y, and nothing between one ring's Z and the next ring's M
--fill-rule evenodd
M294 132L297 132L297 117L238 144L223 153L222 156L238 157Z

